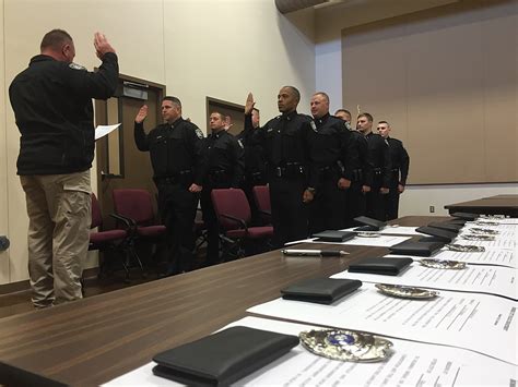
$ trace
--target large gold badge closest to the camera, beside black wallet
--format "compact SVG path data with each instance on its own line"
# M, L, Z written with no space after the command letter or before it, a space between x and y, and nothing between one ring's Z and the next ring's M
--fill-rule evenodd
M309 352L345 362L379 362L392 347L381 337L346 329L314 329L299 332L298 338Z

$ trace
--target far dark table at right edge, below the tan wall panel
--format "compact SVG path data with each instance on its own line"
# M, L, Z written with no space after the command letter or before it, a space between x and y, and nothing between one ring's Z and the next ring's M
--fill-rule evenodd
M505 194L468 201L445 206L449 214L473 213L482 215L505 215L518 217L518 195Z

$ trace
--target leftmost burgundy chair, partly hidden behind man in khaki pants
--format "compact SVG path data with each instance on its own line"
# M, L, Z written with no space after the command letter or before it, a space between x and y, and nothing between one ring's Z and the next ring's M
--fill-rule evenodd
M99 203L94 193L92 193L92 225L91 229L98 228L98 231L92 231L90 233L90 244L89 250L98 250L101 252L111 251L115 254L123 253L126 255L127 251L127 230L103 230L103 215L101 213ZM128 267L126 266L126 259L121 259L122 267L126 270L126 278L129 276ZM106 254L103 256L103 259L99 259L99 274L101 277L106 268Z

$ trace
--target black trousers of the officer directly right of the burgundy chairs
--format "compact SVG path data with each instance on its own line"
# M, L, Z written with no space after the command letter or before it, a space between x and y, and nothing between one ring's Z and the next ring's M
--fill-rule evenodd
M284 243L307 237L307 208L303 203L306 189L301 176L270 177L270 202L272 206L273 244Z

